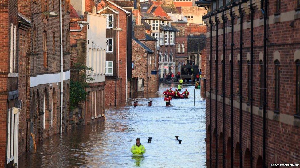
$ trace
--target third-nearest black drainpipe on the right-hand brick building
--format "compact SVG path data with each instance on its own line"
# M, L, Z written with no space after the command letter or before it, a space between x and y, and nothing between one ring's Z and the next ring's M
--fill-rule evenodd
M240 65L239 65L239 165L243 166L242 160L242 102L243 102L243 95L242 95L242 78L243 78L243 12L241 8L242 4L239 4L239 14L240 14L240 43L239 43L239 56L240 56Z

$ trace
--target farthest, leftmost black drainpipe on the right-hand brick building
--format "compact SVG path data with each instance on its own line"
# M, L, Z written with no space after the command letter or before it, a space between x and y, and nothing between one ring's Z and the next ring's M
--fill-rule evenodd
M212 154L212 149L211 149L211 141L212 141L212 122L211 122L211 58L212 58L212 22L211 22L211 17L209 17L209 24L211 25L211 29L210 29L210 62L209 62L209 122L210 122L210 129L211 129L211 132L210 132L210 136L209 136L209 166L212 167L212 160L211 160L211 154Z

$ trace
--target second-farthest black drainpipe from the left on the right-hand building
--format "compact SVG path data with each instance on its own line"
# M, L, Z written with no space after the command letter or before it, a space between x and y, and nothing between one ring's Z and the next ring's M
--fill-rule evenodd
M215 22L216 22L216 65L215 65L215 73L216 73L216 78L215 78L215 129L216 129L216 167L218 167L218 50L219 50L219 45L218 45L218 19L217 15L215 15Z

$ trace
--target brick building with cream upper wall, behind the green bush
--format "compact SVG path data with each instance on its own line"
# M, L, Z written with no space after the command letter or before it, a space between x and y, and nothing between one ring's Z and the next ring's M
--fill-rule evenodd
M71 1L71 81L79 80L80 72L73 70L78 64L93 68L89 77L94 80L87 80L89 87L85 89L86 101L70 111L70 126L104 120L105 114L106 16L98 15L97 10L93 10L97 9L100 1L82 1ZM77 21L86 21L89 25L80 25Z

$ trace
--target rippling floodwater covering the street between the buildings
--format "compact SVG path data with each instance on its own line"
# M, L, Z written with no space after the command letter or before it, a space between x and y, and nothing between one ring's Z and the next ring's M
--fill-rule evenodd
M151 98L128 99L126 106L106 109L105 122L44 140L37 151L19 159L19 167L206 167L205 100L196 89L194 107L194 86L184 86L190 98L173 99L166 107L162 92L170 86L175 85L161 84ZM130 152L137 137L146 148L142 158Z

